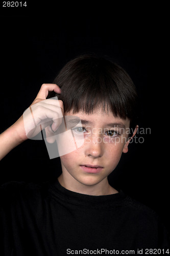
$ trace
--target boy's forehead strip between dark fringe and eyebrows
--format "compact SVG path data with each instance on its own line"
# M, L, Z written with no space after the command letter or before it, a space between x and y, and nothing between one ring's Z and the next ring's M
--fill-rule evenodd
M92 114L86 114L83 111L73 113L72 111L64 113L65 116L78 117L81 119L81 123L84 125L91 126L119 126L122 128L127 128L130 125L130 120L128 118L122 119L115 117L111 111L107 113L103 112L101 109L94 111Z

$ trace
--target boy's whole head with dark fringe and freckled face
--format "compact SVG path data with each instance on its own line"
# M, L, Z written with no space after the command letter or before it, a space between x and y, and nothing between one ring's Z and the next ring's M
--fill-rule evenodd
M130 127L135 131L132 136L137 131L134 84L122 68L94 56L69 61L54 82L61 88L57 96L63 101L65 117L81 120L82 126L71 131L73 137L81 141L83 136L77 150L60 157L60 183L74 191L82 191L82 184L97 185L101 191L122 153L128 152ZM69 138L63 134L57 143L69 147Z

